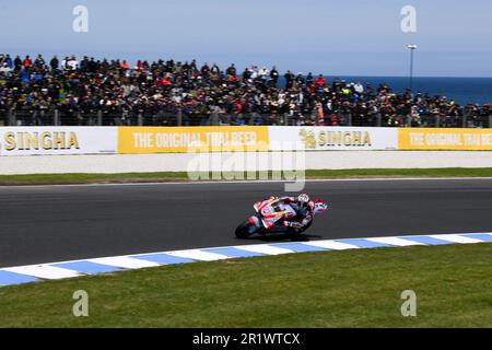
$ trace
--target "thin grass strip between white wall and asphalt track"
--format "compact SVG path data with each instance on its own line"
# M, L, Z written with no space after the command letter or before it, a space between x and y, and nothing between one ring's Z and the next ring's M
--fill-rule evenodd
M201 179L213 179L212 174ZM235 177L236 179L246 178ZM360 177L492 177L491 167L480 168L368 168L306 171L306 178L360 178ZM94 183L149 183L189 180L186 172L125 173L125 174L34 174L0 175L0 185L94 184ZM219 177L221 178L221 177ZM222 178L233 178L225 174ZM267 179L271 179L271 173Z

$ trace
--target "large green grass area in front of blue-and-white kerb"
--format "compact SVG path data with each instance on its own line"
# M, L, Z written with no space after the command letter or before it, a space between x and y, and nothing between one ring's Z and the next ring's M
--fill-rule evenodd
M492 327L492 244L292 254L0 288L1 327ZM89 293L89 317L72 294ZM417 317L402 317L403 290Z

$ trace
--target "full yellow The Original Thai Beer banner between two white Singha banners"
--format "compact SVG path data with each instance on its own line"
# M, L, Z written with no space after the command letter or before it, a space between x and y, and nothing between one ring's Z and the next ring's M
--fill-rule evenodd
M119 127L118 153L268 151L268 127Z

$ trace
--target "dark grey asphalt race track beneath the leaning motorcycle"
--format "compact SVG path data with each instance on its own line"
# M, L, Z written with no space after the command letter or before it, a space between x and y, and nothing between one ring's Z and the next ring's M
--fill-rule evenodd
M492 179L309 182L309 240L492 231ZM282 183L0 187L0 267L261 243L235 238Z

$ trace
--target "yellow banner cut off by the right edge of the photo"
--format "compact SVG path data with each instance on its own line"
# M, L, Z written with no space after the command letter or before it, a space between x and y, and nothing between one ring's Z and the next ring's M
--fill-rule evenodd
M492 129L398 129L400 150L492 150Z

